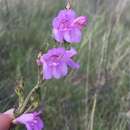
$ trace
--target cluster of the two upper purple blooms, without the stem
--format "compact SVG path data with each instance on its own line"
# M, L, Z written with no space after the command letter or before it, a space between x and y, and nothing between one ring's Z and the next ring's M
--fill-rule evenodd
M87 25L86 16L76 16L72 9L61 10L52 21L53 38L58 43L79 43L82 39L82 30ZM46 54L42 54L37 64L42 66L43 79L64 77L68 73L68 67L78 69L79 64L72 60L77 54L74 48L66 50L64 47L52 48Z

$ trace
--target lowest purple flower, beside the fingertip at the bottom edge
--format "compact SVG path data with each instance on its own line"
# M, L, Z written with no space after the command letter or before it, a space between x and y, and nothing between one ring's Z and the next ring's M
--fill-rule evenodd
M27 113L16 118L14 124L24 124L27 130L42 130L44 128L43 121L39 117L40 113Z

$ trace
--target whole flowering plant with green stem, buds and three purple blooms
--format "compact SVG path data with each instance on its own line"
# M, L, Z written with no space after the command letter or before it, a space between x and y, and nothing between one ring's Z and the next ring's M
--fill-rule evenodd
M36 85L24 97L22 83L16 87L19 104L13 110L12 123L23 124L27 130L42 130L44 123L40 118L41 111L36 112L40 105L40 87L44 80L60 79L68 74L68 68L79 69L79 63L72 58L78 53L71 45L82 39L82 30L87 25L87 16L77 16L71 8L71 1L67 0L66 8L59 11L52 21L53 39L58 43L57 48L51 48L46 53L40 52L36 63L38 65L38 79ZM66 49L64 43L67 43ZM38 97L38 98L37 98Z

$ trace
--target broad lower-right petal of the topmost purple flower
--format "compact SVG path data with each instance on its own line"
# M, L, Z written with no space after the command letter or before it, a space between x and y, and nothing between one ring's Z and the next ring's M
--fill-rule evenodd
M78 28L72 28L64 32L64 39L70 43L79 43L81 41L81 31Z

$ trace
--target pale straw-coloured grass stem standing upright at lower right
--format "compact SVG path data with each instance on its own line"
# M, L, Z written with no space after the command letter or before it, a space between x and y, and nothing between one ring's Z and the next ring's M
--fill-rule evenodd
M92 107L92 112L91 112L90 130L93 130L96 103L97 103L97 93L95 93L94 95L93 107Z

